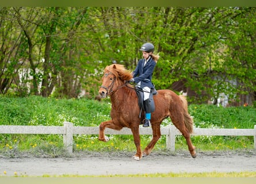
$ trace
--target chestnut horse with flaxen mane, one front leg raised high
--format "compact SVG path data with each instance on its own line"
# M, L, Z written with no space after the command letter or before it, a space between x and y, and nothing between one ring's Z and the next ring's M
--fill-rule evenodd
M151 116L153 138L142 152L139 125L144 118L143 116L139 118L140 109L137 94L134 87L127 82L131 78L132 72L126 70L121 64L112 64L105 68L99 94L101 98L106 98L109 95L112 103L110 112L112 120L101 122L98 139L101 141L109 140L104 134L105 128L119 131L123 127L130 128L137 148L133 158L140 160L142 156L151 153L156 141L161 137L161 122L170 117L175 127L185 137L190 154L196 158L195 147L190 139L190 133L193 131L193 120L188 113L187 101L184 96L177 95L171 90L158 90L158 94L154 95L155 111Z

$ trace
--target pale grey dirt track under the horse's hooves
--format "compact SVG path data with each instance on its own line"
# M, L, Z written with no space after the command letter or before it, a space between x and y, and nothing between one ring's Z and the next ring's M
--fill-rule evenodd
M256 171L255 151L152 153L140 161L131 152L79 153L70 158L6 158L0 155L0 175L115 175ZM3 172L6 171L6 174Z

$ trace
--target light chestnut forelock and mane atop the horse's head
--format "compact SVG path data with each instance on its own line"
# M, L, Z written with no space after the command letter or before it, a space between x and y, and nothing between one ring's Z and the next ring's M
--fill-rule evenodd
M105 68L104 72L110 72L122 81L128 81L132 78L132 72L127 70L122 64L111 64Z

